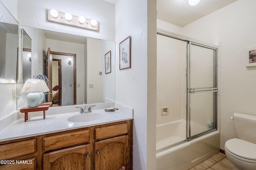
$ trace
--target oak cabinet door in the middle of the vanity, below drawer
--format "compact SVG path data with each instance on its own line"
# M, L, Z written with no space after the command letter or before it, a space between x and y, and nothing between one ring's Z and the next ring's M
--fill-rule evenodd
M44 170L91 170L90 145L44 154Z

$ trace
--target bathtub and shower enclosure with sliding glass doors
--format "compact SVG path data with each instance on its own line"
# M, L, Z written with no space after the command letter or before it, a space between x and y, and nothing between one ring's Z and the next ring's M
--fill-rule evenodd
M218 47L180 37L157 34L157 170L189 169L220 150Z

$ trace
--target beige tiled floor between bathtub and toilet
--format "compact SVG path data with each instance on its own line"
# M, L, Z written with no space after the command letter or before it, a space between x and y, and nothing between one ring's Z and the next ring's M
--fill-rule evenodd
M232 170L233 164L223 153L218 153L189 170Z

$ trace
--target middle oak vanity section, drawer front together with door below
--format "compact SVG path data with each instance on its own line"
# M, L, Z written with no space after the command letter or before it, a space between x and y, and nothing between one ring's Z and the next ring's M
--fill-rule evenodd
M92 170L90 128L42 135L44 170Z

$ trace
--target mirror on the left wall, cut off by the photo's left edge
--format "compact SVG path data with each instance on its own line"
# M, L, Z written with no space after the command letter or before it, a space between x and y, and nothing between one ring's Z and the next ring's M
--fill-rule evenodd
M0 3L0 83L18 80L18 22Z

